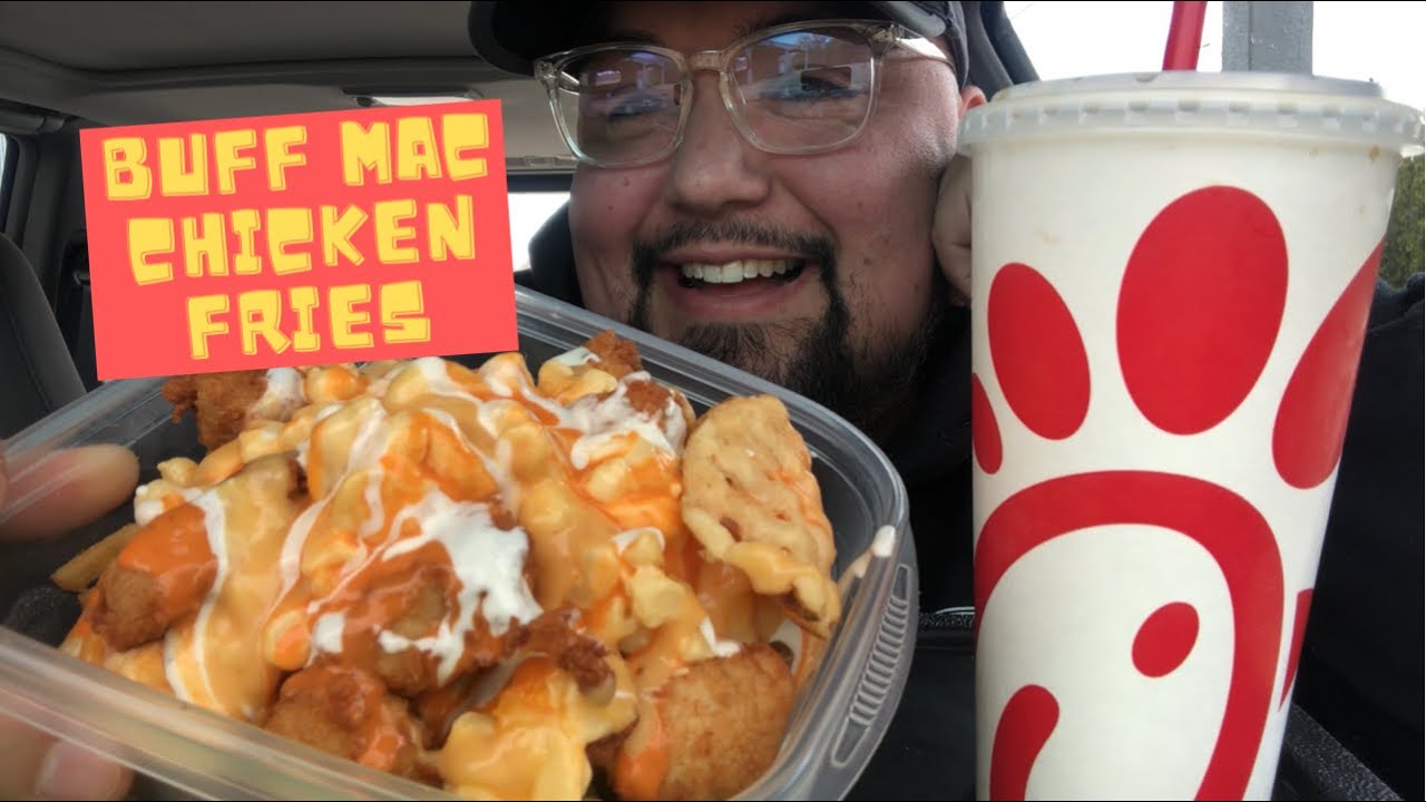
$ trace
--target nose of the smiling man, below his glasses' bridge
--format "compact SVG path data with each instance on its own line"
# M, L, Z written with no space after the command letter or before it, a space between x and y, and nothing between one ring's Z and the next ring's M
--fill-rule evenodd
M670 204L706 215L757 205L771 190L769 154L737 131L717 81L713 73L696 76L693 108L665 186Z

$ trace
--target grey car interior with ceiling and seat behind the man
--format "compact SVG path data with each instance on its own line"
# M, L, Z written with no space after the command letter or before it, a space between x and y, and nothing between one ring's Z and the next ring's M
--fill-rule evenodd
M100 384L86 128L498 98L511 194L568 190L575 161L543 90L476 57L468 6L0 1L0 441ZM970 81L992 96L1035 80L1004 3L964 6ZM1302 711L1279 773L1278 798L1392 798Z

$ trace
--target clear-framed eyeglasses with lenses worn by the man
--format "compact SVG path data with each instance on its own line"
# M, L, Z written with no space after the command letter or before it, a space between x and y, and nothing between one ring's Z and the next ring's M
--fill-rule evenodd
M535 74L575 157L635 167L677 150L700 70L717 73L723 107L754 147L776 154L843 147L871 118L891 54L950 64L931 41L894 23L816 20L693 54L640 43L579 47L536 60Z

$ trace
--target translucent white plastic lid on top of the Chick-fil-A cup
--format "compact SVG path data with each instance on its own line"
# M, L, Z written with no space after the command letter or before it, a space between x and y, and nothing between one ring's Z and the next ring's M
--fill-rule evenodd
M1422 153L1422 111L1382 87L1289 73L1127 73L1017 84L965 113L960 147L1114 131L1303 137Z

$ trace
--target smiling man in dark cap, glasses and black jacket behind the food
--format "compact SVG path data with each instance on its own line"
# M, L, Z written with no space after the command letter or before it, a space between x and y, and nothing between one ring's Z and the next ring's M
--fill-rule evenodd
M783 37L809 31L776 26L837 17L896 21L937 50L886 50L880 84L824 68L871 49L846 30L810 34L841 60L779 57ZM532 243L520 281L863 428L910 492L923 611L971 604L970 196L955 130L984 96L965 81L964 31L958 3L471 13L472 41L495 66L583 78L556 84L552 104L580 157L568 217ZM684 84L677 54L697 51L719 56L700 57ZM1400 293L1378 287L1299 671L1303 706L1407 796L1422 788L1420 626L1395 622L1422 621L1420 300L1419 277ZM1392 651L1396 632L1409 658ZM900 715L924 715L933 686Z

